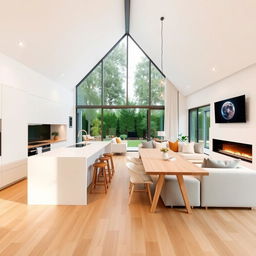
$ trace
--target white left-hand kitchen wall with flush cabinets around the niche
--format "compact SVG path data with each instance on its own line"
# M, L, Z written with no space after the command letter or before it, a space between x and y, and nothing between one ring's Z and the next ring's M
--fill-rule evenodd
M0 53L2 164L27 157L28 124L66 124L67 143L74 141L68 117L74 117L74 93ZM74 126L73 126L74 127Z

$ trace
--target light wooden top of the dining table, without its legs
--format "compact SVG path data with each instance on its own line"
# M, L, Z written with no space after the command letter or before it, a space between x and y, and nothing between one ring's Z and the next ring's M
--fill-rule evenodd
M160 149L140 149L140 156L147 174L169 175L209 175L204 169L194 165L171 150L172 159L164 160Z

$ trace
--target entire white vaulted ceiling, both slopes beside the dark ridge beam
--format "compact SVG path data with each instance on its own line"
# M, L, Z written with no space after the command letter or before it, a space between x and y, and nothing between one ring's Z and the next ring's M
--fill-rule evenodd
M0 0L0 52L74 88L125 32L123 0ZM132 0L130 34L185 95L256 62L255 0Z

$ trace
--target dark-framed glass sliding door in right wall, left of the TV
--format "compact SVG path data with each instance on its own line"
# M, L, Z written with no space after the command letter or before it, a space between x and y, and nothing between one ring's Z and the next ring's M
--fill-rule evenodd
M210 106L189 110L189 140L203 142L209 148Z

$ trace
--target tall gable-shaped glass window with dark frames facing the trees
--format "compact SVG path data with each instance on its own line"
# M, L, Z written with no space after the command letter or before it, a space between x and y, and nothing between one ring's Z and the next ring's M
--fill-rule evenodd
M164 130L164 75L130 36L77 85L77 131L133 148ZM81 140L81 136L79 140Z

